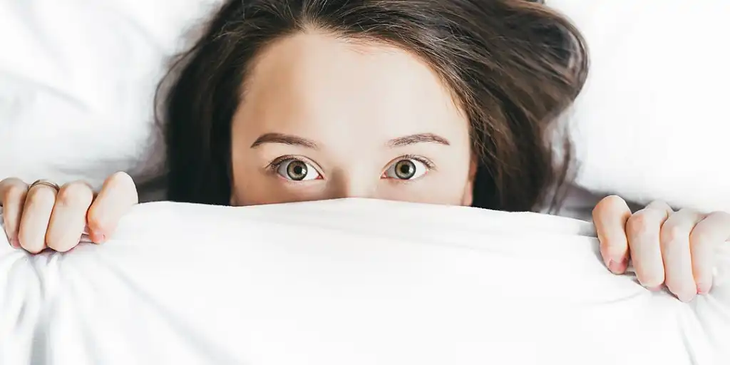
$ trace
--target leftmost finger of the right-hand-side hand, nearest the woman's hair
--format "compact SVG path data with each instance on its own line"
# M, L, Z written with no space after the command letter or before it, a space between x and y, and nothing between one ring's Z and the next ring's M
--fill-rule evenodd
M601 255L614 274L623 274L629 266L629 241L626 239L629 217L629 205L618 196L607 196L593 209L593 224L601 244Z

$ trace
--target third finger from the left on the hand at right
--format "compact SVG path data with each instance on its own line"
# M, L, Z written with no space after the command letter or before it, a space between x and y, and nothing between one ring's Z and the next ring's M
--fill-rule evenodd
M691 301L697 294L692 275L690 234L703 216L694 210L680 210L669 216L661 227L661 256L664 260L664 284L681 301Z

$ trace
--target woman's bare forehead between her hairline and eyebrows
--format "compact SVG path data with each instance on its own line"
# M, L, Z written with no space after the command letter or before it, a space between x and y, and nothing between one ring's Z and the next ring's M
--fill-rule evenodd
M265 48L248 74L237 120L254 133L297 134L324 145L343 138L468 134L452 93L419 58L398 47L316 32Z

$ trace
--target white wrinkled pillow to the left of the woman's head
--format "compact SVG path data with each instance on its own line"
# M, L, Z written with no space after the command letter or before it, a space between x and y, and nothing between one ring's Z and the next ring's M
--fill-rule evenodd
M157 169L155 87L220 1L0 1L0 178Z

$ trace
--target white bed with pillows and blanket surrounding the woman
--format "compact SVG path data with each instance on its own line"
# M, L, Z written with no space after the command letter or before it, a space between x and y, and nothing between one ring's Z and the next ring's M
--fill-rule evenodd
M153 180L155 85L218 4L0 1L0 177ZM730 212L730 1L548 4L592 58L563 217L159 202L70 253L0 235L0 364L730 364L729 245L684 304L610 274L589 221L609 193Z

